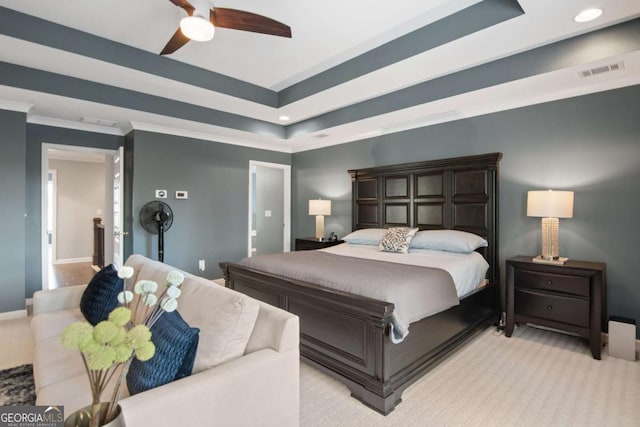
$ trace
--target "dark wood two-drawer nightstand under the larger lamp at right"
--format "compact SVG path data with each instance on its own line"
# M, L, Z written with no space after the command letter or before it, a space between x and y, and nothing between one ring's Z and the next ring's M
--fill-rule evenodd
M587 338L593 358L600 359L607 318L605 264L540 264L518 256L507 260L506 286L506 336L518 322L571 332Z

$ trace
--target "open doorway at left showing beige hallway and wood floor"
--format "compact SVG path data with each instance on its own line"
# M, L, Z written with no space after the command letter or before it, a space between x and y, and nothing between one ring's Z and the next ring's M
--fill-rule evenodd
M113 193L106 160L112 153L42 144L42 289L86 284L93 277L94 218L110 235Z

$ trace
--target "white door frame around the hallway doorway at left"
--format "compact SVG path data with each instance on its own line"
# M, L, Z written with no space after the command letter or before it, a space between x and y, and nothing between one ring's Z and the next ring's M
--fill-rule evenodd
M49 150L65 150L65 151L80 151L84 153L100 153L104 155L113 156L117 151L109 150L106 148L94 148L94 147L82 147L77 145L64 145L64 144L52 144L49 142L43 142L41 145L41 164L40 164L40 258L42 268L42 289L49 289L49 263L48 263L48 236L47 236L47 175L49 172ZM105 211L108 207L105 205ZM113 209L110 209L110 211ZM105 212L104 215L107 215ZM111 213L113 216L113 213ZM106 233L105 233L106 235Z

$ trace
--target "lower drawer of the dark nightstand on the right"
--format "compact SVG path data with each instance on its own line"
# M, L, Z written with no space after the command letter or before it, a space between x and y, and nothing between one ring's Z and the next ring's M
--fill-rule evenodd
M589 327L589 300L525 289L515 291L515 312L524 316Z

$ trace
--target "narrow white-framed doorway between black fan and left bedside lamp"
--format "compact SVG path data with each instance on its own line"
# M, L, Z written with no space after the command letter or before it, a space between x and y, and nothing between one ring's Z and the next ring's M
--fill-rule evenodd
M291 166L249 162L248 256L291 250Z

